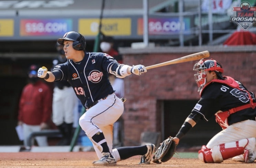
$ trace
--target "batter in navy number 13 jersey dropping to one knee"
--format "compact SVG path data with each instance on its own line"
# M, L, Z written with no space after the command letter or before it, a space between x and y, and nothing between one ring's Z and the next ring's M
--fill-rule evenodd
M58 43L64 45L65 63L58 64L50 72L45 67L38 70L38 77L48 82L68 81L86 109L79 119L81 128L92 141L100 160L93 165L113 165L131 156L141 155L140 163L150 163L154 144L112 149L113 123L124 110L108 80L108 74L116 77L141 75L144 65L129 66L118 63L113 57L101 52L85 52L85 38L78 32L67 32Z

